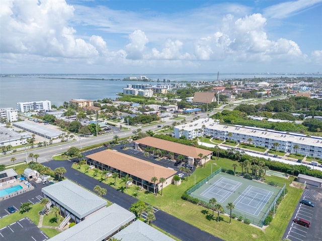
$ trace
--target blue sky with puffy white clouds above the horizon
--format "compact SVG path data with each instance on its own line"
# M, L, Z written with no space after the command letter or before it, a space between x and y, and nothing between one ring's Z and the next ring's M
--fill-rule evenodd
M322 72L322 0L0 2L1 73Z

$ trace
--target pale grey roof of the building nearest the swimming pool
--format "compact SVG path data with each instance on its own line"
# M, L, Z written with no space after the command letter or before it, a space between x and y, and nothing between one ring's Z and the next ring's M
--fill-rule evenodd
M44 187L41 191L80 219L107 205L103 198L69 180Z

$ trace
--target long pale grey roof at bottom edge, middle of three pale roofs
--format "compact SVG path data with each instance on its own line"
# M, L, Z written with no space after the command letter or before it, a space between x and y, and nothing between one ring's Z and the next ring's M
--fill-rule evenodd
M48 241L102 241L133 219L135 215L132 212L114 203Z

